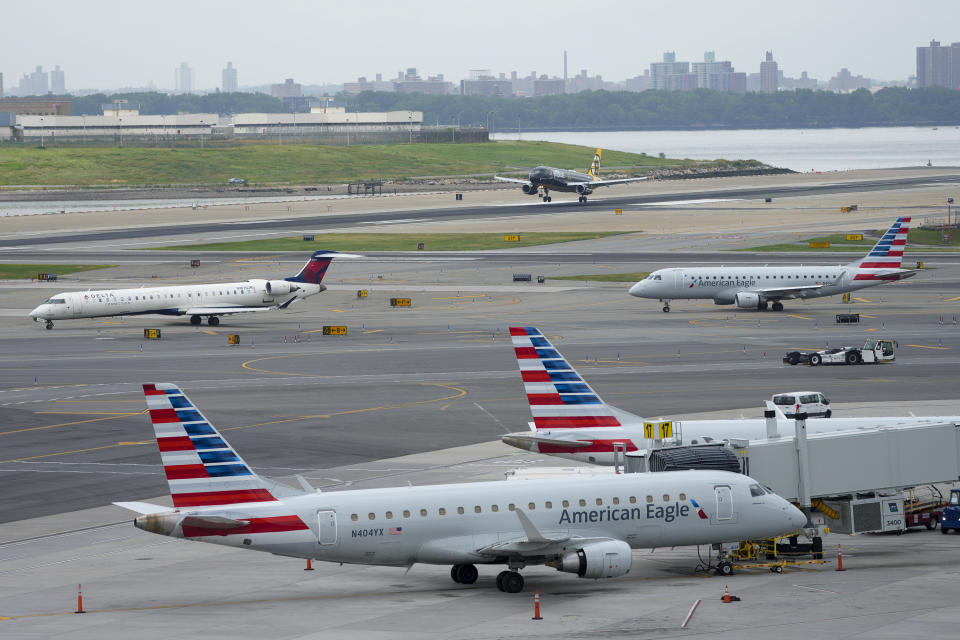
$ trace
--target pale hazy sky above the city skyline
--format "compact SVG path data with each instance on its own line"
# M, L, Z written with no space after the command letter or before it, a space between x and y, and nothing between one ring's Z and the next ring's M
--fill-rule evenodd
M241 86L389 79L406 67L453 82L470 69L562 75L564 49L570 75L607 80L642 73L664 51L692 62L711 50L747 73L771 50L788 76L827 80L847 67L904 80L915 47L960 41L960 0L47 0L5 3L0 20L4 84L59 64L68 90L172 88L182 61L199 89L219 86L228 60Z

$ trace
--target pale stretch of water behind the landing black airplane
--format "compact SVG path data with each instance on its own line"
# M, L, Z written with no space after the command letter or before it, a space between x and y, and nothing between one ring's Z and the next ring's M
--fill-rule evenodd
M497 133L516 140L516 133ZM960 166L960 127L522 132L546 140L694 160L759 160L794 171ZM589 162L584 159L584 164Z

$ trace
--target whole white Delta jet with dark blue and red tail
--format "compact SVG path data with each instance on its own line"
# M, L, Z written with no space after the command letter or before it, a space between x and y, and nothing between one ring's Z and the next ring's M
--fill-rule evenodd
M270 309L286 309L294 300L302 300L324 291L320 284L334 258L356 258L349 253L316 251L295 276L283 280L246 280L221 284L189 284L174 287L107 289L58 293L30 312L35 322L159 314L189 316L190 324L203 322L215 327L220 316Z

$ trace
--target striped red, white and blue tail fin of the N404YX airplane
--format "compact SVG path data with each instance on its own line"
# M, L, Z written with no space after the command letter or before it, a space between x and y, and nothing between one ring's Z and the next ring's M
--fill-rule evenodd
M177 385L145 384L143 393L175 507L276 501Z

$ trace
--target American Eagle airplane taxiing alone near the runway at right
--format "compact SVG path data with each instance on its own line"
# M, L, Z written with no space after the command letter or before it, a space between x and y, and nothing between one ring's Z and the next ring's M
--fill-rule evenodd
M781 300L821 298L905 280L916 271L901 269L910 218L897 218L863 258L835 267L672 267L659 269L630 287L630 295L659 299L663 311L671 300L712 299L741 309L783 311Z

